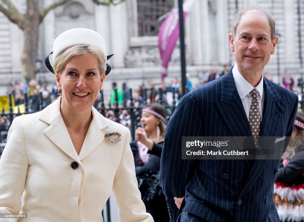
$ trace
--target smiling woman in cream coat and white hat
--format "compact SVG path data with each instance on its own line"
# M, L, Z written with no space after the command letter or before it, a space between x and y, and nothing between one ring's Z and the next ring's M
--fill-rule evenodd
M92 107L110 70L104 40L70 29L53 51L62 96L13 120L0 160L0 213L27 213L17 221L100 222L113 190L120 221L153 221L137 188L130 131Z

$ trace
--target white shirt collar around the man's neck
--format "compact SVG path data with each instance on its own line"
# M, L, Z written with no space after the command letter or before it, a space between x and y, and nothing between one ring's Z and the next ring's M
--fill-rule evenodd
M261 98L263 98L264 90L263 90L263 77L264 73L262 73L262 78L257 87L253 87L245 78L241 75L240 71L237 68L237 63L234 65L232 69L233 79L235 82L235 86L237 87L237 91L240 95L241 100L247 96L254 88L257 89Z

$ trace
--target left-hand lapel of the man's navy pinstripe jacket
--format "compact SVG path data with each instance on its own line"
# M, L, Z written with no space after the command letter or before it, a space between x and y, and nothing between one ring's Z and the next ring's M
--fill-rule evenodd
M251 128L235 86L232 68L221 78L220 101L213 101L231 136L251 136Z

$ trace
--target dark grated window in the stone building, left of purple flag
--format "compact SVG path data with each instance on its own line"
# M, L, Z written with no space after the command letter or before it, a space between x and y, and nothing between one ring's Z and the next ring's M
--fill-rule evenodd
M159 17L169 12L174 0L137 0L138 35L157 36L162 21Z

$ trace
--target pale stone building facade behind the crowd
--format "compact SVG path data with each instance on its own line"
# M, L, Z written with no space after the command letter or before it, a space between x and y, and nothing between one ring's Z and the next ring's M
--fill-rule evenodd
M24 0L14 0L22 11ZM47 5L53 0L41 0ZM304 0L196 0L185 21L187 72L193 83L199 71L215 68L221 71L224 64L234 65L228 34L236 8L259 5L276 21L280 34L279 44L265 68L280 82L287 71L297 79L304 73ZM126 0L119 5L95 5L92 0L72 0L51 11L40 26L40 43L37 80L54 83L54 75L47 71L45 55L52 51L54 39L71 28L89 28L100 33L107 53L115 55L109 60L111 74L106 77L105 90L111 82L126 82L132 88L139 84L159 84L161 60L157 47L157 32L161 15L177 7L177 0ZM165 16L163 16L165 17ZM149 21L150 19L150 21ZM20 55L23 47L22 32L0 13L0 94L21 80ZM179 42L168 67L169 82L180 77ZM279 75L278 75L279 73Z

